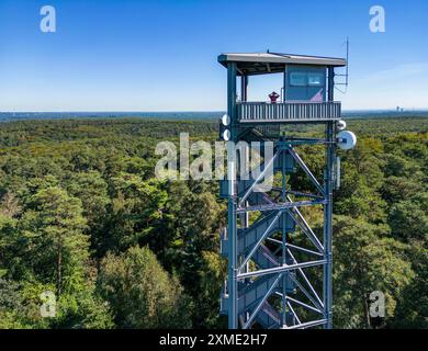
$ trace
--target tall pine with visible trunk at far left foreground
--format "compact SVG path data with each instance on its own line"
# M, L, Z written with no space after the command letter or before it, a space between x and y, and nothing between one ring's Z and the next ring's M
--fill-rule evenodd
M89 258L80 200L58 186L42 189L31 197L20 227L34 276L55 282L58 295L80 290Z

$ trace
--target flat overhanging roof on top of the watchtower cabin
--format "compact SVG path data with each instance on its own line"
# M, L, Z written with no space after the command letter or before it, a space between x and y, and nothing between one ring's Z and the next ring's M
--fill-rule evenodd
M222 54L218 56L218 63L225 67L227 67L227 63L237 63L238 73L248 76L282 72L285 69L285 65L324 67L343 67L347 65L347 60L345 58L281 53Z

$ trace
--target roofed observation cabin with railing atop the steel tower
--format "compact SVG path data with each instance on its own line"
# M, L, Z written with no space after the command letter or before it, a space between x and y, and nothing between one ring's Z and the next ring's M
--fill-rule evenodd
M218 61L228 69L230 80L240 77L241 97L236 102L239 123L340 120L340 103L334 101L334 86L335 67L347 66L343 58L274 53L223 54ZM281 102L248 102L249 77L269 73L283 73ZM229 88L236 90L232 81Z

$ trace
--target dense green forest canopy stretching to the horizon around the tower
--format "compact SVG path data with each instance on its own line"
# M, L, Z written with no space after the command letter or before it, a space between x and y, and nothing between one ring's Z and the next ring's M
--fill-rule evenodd
M428 118L348 125L359 141L335 193L334 325L369 327L381 291L383 327L427 328ZM218 185L154 174L156 144L181 132L217 139L213 121L0 124L0 328L226 327ZM320 155L302 155L320 172ZM40 314L46 291L54 318Z

